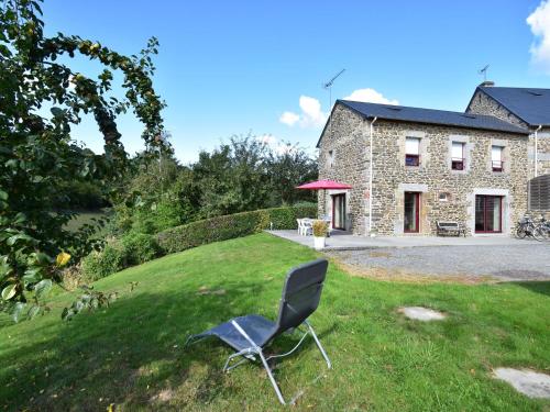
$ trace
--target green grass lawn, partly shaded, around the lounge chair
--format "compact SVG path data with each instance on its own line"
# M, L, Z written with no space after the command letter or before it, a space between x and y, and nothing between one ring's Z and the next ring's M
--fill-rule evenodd
M184 350L183 343L231 316L273 319L287 269L316 256L267 234L169 255L98 281L99 290L121 291L120 300L69 323L59 313L73 296L59 293L52 313L0 329L0 410L276 410L261 367L222 374L228 347L212 339ZM402 305L449 318L408 321L396 311ZM491 372L549 371L549 311L550 282L388 282L330 265L311 322L333 369L309 341L276 365L276 377L287 398L304 390L297 410L548 410L549 401L530 400ZM284 337L273 349L295 342Z

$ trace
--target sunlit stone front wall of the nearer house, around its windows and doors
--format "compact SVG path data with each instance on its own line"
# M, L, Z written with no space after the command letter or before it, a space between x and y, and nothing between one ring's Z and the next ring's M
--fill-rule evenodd
M424 135L427 156L420 167L405 166L405 137ZM452 170L452 141L468 142L466 171ZM474 232L474 194L505 196L506 233L527 209L527 137L442 125L378 121L374 131L374 221L380 234L403 233L404 192L421 192L420 233L435 234L436 221L464 222ZM504 145L504 172L492 171L491 146ZM495 191L498 191L496 193ZM447 194L441 201L440 194Z

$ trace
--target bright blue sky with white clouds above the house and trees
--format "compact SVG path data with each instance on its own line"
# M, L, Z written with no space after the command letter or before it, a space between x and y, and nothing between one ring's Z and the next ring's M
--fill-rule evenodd
M158 38L154 87L184 164L249 133L314 153L331 107L322 85L342 69L332 102L463 111L487 64L496 86L550 88L550 0L45 0L43 11L46 35L127 55ZM118 124L127 151L142 149L135 118ZM91 119L73 135L102 152Z

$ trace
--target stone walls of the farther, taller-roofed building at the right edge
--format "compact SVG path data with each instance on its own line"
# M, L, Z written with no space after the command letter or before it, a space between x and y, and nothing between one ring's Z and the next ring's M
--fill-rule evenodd
M531 131L529 136L528 157L529 157L529 178L535 177L535 127L529 125L503 107L496 100L477 89L472 97L468 109L468 113L494 115L508 123L516 124L520 127L526 127ZM550 174L550 127L542 127L538 133L538 175Z

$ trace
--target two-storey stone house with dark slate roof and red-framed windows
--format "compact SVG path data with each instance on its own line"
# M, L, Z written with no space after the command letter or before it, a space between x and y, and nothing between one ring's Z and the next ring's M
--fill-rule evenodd
M338 100L317 145L319 178L352 189L319 192L319 213L358 235L433 235L437 221L474 236L509 234L527 210L529 178L548 172L550 140L486 88L464 113Z

